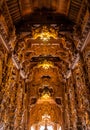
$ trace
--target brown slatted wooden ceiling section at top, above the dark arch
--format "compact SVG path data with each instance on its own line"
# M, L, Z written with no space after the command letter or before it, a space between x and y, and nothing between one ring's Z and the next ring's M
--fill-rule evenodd
M46 12L44 17L49 20L50 13L62 14L68 17L73 22L78 22L80 13L86 10L86 0L6 0L10 15L14 23L19 22L21 19L32 13ZM44 19L43 17L43 19Z

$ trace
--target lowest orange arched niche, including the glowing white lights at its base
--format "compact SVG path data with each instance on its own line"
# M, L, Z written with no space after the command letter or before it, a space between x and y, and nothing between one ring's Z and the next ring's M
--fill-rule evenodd
M40 101L30 110L29 130L61 130L62 113L53 99Z

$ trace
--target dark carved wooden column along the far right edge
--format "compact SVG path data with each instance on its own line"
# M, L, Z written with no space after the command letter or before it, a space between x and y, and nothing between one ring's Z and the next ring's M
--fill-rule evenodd
M90 51L87 51L87 54ZM89 55L88 55L89 56ZM90 58L87 58L87 61L85 62L85 57L83 57L83 54L81 55L80 63L81 63L81 72L82 72L82 81L84 83L84 94L83 94L83 106L84 106L84 113L85 113L85 123L86 123L86 129L90 127L90 81L89 81L89 66L90 66ZM88 64L87 64L88 62ZM87 67L88 66L88 67ZM88 73L88 74L87 74Z

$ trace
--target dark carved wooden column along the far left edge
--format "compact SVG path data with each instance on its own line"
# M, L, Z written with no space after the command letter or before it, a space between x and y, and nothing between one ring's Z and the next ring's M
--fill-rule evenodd
M8 56L5 55L5 50L3 49L2 46L0 46L0 61L1 61L1 71L0 71L0 74L1 74L1 83L0 83L0 121L2 123L4 123L4 104L6 102L6 100L4 98L6 98L6 96L4 97L4 94L6 92L5 90L5 85L6 85L6 76L7 76L7 58ZM6 59L6 60L5 60Z

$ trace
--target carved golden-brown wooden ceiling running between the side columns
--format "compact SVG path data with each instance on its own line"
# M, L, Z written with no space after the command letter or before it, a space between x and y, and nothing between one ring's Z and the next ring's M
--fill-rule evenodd
M68 79L90 43L89 1L1 0L0 7L0 39L13 66L10 74L19 77L16 86L27 95L28 128L44 114L62 125L66 86L73 80Z

